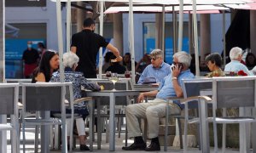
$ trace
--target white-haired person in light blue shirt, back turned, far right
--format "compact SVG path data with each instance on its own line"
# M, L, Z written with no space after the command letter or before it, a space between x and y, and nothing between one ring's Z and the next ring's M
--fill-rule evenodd
M230 63L225 65L224 71L232 71L237 73L238 71L244 71L247 73L247 76L252 75L251 72L247 69L246 65L241 64L242 50L241 48L235 47L230 50Z

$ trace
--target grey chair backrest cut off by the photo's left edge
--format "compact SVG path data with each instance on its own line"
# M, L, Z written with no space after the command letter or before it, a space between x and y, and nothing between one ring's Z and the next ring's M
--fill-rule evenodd
M16 115L19 83L0 83L0 114Z

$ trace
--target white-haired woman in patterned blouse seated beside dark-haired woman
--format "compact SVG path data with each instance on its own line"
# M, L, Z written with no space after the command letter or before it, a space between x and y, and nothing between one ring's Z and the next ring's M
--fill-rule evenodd
M81 86L92 91L101 90L100 86L96 82L90 82L86 80L83 73L75 71L79 63L79 57L72 52L63 54L63 65L65 67L65 82L73 82L73 96L74 99L79 99L82 97ZM52 77L51 82L60 82L60 72L56 71ZM70 110L67 110L67 113ZM88 107L84 103L79 103L74 105L74 113L81 116L76 119L76 126L79 133L80 150L90 150L85 144L85 127L84 120L88 114ZM71 120L67 119L67 131L70 129ZM67 136L69 133L67 133ZM69 145L67 146L69 148Z

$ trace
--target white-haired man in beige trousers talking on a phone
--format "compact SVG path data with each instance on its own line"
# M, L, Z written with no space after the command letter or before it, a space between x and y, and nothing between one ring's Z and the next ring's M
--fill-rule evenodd
M189 70L190 62L191 56L186 52L174 54L172 73L160 82L158 90L141 93L137 99L139 104L128 105L125 108L128 133L130 133L131 137L134 137L134 143L128 147L123 147L123 150L160 150L158 139L159 119L166 116L166 98L183 96L183 90L180 86L182 79L195 77ZM143 103L145 97L152 96L156 96L154 100ZM179 113L183 108L183 105L177 101L173 101L169 106L171 114ZM146 147L146 143L143 140L138 122L141 118L147 118L148 121L148 138L151 139L151 144L148 147Z

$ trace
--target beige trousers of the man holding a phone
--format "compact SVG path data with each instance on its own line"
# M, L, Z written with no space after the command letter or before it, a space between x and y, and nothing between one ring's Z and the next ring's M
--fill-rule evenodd
M170 103L170 114L179 113L180 107L174 103ZM158 137L160 118L166 116L166 100L154 99L148 103L139 103L128 105L125 108L128 133L131 137L142 135L139 119L147 119L148 121L148 138ZM146 126L146 125L145 125Z

